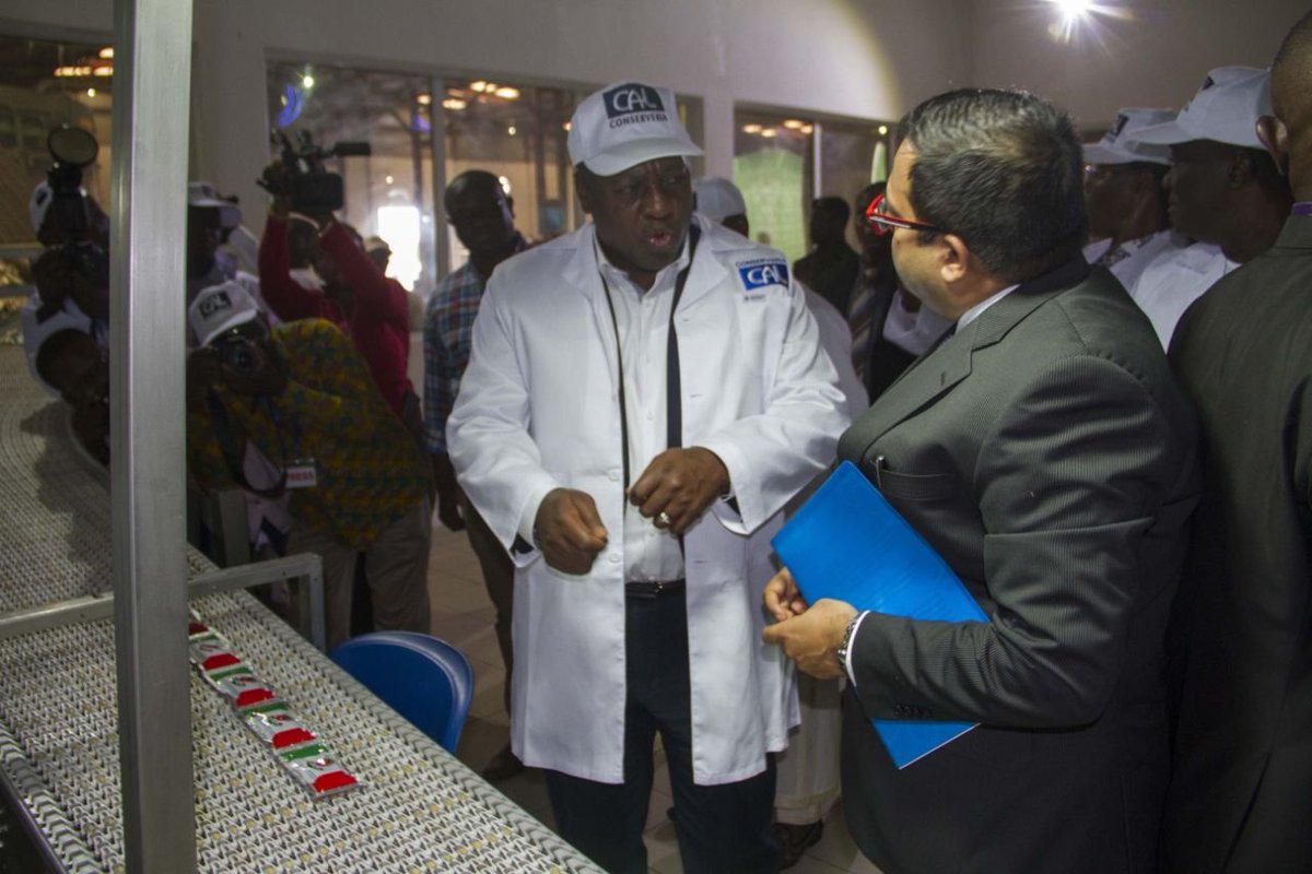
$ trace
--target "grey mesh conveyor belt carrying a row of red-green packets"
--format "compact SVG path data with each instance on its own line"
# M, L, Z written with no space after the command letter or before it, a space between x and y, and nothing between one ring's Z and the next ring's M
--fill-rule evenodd
M0 347L0 612L108 590L108 493L20 349ZM597 870L247 592L192 607L363 784L311 801L193 675L199 870ZM122 870L113 622L0 639L0 777L66 870Z

